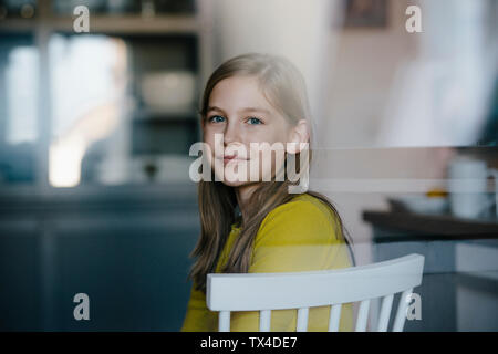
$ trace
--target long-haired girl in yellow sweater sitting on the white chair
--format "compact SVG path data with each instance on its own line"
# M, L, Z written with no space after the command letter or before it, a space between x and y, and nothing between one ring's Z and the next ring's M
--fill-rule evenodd
M218 315L206 306L208 273L299 272L352 262L333 205L317 192L289 192L302 180L277 178L299 160L302 179L308 165L301 163L311 153L305 85L293 64L258 53L228 60L209 77L199 114L215 178L198 186L201 233L181 330L218 331ZM255 144L263 147L255 150ZM261 163L264 156L271 164ZM310 309L308 330L326 331L329 314L330 306ZM272 311L271 331L295 331L295 322L297 310ZM258 329L259 312L231 313L231 331ZM340 330L352 331L352 304L342 308Z

